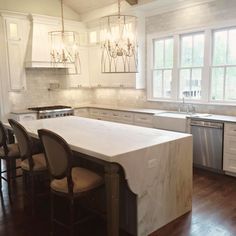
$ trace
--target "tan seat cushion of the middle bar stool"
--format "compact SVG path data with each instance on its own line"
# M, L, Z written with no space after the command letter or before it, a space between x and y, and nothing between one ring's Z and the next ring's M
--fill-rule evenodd
M33 171L47 170L46 159L43 153L35 154L32 156L32 158L34 162ZM25 159L21 162L21 168L27 171L30 170L28 159Z

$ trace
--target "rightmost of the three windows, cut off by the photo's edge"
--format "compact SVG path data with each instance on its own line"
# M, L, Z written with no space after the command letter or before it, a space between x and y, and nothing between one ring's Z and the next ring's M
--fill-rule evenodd
M213 32L211 100L236 101L236 28Z

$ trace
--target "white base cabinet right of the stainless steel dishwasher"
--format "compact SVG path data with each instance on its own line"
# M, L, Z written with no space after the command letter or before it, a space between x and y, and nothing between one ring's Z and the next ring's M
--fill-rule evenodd
M236 124L224 125L223 169L236 174Z

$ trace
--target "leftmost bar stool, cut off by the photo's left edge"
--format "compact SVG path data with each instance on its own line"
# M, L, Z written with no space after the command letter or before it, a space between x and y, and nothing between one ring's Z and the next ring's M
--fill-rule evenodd
M11 180L22 176L15 175L16 169L20 168L20 166L15 167L17 159L20 159L18 144L7 144L6 130L0 121L0 187L2 189L2 179L5 180L7 182L9 196L11 196ZM2 160L6 161L6 170L3 171L1 166ZM2 175L3 173L7 174L6 178Z

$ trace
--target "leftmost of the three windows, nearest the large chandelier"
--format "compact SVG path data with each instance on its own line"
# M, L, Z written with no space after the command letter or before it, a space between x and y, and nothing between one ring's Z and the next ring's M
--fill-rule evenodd
M152 95L171 98L173 38L154 40L153 48Z

